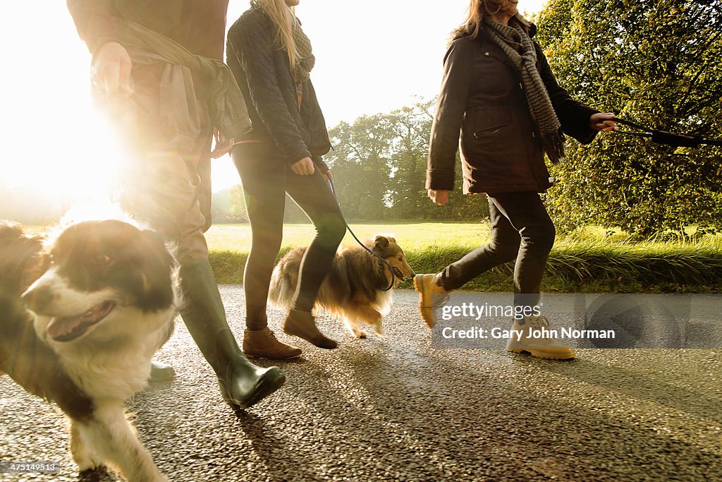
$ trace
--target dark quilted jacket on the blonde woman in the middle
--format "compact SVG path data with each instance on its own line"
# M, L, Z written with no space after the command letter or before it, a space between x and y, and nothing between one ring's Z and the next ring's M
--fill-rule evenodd
M326 121L310 80L303 83L299 108L288 53L275 42L277 29L257 9L249 9L230 27L227 64L248 106L253 132L246 139L271 140L289 165L312 158L327 170L321 155L331 149Z

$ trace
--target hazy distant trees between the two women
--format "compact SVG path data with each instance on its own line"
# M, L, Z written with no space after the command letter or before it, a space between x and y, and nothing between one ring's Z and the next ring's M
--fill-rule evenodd
M331 129L334 150L326 155L326 163L348 219L473 220L488 215L484 197L461 193L461 176L447 206L434 205L426 195L434 103L362 116Z

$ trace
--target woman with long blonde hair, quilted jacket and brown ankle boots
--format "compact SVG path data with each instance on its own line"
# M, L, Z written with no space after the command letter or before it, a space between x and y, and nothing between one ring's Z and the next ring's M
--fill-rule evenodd
M295 303L282 330L319 348L336 348L336 342L316 327L311 309L346 223L327 183L331 173L321 160L331 142L310 82L315 58L295 17L293 7L298 3L253 0L227 38L227 63L243 90L253 124L253 132L232 150L252 233L243 275L243 352L264 358L293 358L301 353L277 340L266 319L287 193L313 221L316 237L301 262Z

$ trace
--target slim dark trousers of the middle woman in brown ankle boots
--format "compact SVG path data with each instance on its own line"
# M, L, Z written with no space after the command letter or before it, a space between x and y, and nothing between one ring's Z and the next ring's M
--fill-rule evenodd
M298 176L282 160L275 145L253 142L236 145L233 163L243 183L245 208L251 223L251 253L245 263L246 326L266 327L268 298L274 262L281 249L286 193L308 215L316 237L306 250L300 267L294 309L311 311L318 288L331 269L346 223L329 184L316 168L310 176Z

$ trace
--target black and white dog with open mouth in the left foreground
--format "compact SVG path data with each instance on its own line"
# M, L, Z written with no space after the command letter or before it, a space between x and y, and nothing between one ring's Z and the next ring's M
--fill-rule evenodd
M74 223L53 240L0 223L0 374L69 416L81 471L167 480L123 404L173 332L176 272L157 233L123 221Z

